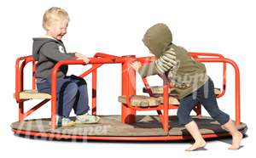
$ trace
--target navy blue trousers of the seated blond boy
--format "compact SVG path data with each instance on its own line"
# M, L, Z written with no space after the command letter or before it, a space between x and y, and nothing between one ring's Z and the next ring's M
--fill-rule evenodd
M51 82L37 83L38 92L51 93ZM68 117L73 109L75 114L83 115L90 110L88 105L87 84L79 76L65 76L57 79L57 114Z

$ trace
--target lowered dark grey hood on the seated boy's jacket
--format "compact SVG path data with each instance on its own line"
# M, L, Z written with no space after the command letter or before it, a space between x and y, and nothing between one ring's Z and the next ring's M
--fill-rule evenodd
M36 61L38 61L39 59L38 54L39 54L40 48L42 48L44 44L47 42L57 42L57 41L54 39L45 38L45 37L33 38L32 56Z

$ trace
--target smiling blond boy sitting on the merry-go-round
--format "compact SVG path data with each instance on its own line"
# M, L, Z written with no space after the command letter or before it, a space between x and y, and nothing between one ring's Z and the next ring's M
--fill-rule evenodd
M43 27L46 31L42 37L33 38L32 55L37 61L36 78L38 92L49 93L51 87L51 72L55 64L63 59L83 59L89 62L83 54L67 53L61 41L67 33L69 16L62 8L52 7L45 11ZM98 116L90 116L88 111L88 93L84 78L67 76L67 65L61 66L57 72L57 123L59 126L73 126L75 123L96 123ZM76 121L71 121L69 115L74 110Z

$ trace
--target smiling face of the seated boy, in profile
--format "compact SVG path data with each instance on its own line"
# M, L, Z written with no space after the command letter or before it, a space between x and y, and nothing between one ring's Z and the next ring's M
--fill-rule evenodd
M67 33L68 20L55 21L49 26L47 34L57 40L61 40Z

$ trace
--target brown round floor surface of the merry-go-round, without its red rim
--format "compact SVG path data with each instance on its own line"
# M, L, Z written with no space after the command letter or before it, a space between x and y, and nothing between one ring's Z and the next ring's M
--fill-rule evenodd
M72 117L72 120L75 118ZM183 126L177 124L177 116L169 117L171 127L169 133L165 133L161 127L159 116L137 116L136 123L131 125L124 124L120 121L120 116L101 116L98 124L82 124L74 127L50 128L50 119L34 119L23 122L16 121L11 124L13 129L21 131L38 132L38 133L58 133L76 136L181 136L189 135ZM221 134L228 133L218 121L212 120L208 116L193 116L202 134ZM241 123L237 126L240 131L246 131L247 125Z

